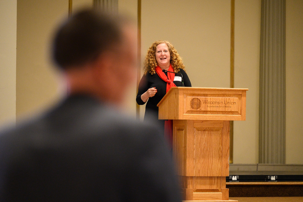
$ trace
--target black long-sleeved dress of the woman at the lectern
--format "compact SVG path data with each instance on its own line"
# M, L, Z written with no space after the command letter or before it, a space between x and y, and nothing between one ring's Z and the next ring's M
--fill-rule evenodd
M186 72L183 69L180 69L178 73L181 73L183 76L184 86L191 87L191 82ZM165 72L165 75L167 76L167 72ZM175 74L174 84L177 87L182 86L180 77L181 76L179 74ZM145 102L143 102L141 99L141 95L145 93L149 88L156 87L157 93L155 94L155 96L149 98L146 103L144 121L151 120L154 122L158 122L159 124L158 126L163 128L163 130L164 130L164 120L158 120L159 108L157 107L157 104L166 94L166 84L167 83L164 80L162 80L157 73L153 75L151 75L150 73L143 75L139 83L138 94L136 98L136 101L139 105L145 104Z

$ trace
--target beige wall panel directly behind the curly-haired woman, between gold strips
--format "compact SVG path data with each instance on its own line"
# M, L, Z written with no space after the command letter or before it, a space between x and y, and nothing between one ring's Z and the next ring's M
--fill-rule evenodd
M168 40L193 87L229 87L230 8L221 0L143 0L142 61L151 43Z

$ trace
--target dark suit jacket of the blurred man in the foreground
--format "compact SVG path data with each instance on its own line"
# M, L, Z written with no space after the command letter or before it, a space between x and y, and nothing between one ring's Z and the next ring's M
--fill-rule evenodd
M0 134L0 201L179 201L164 137L86 96Z

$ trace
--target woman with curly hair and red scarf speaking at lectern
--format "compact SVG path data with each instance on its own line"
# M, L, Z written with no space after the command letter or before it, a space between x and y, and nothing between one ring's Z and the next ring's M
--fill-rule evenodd
M191 87L184 64L174 46L168 41L156 41L144 60L144 75L140 80L136 101L145 104L144 121L151 120L163 128L172 148L172 120L158 120L157 104L171 87ZM171 73L174 72L174 73ZM182 80L183 79L183 80Z

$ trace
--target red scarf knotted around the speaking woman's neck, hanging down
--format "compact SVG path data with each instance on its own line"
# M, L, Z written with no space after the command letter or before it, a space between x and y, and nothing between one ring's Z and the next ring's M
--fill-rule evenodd
M155 68L155 71L157 72L159 77L167 83L166 84L166 93L169 91L169 89L171 89L171 87L176 86L173 82L175 79L175 73L171 73L174 71L174 69L171 67L171 64L168 67L168 71L170 71L170 72L167 72L167 76L165 75L164 72L162 72L162 69L159 66L157 66ZM170 149L172 149L172 130L173 130L172 120L165 121L164 134L165 134L166 138L168 139Z

